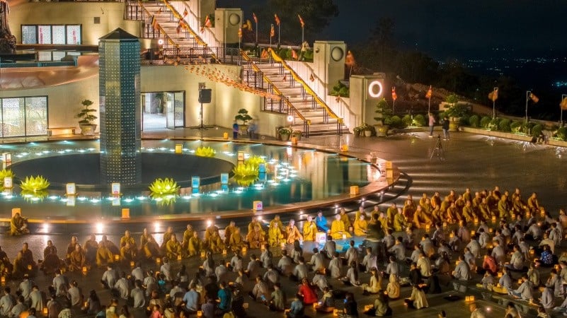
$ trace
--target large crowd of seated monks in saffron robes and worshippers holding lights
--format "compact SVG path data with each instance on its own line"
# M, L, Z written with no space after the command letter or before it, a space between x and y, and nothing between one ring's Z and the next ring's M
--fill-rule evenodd
M510 194L498 187L474 193L466 189L463 194L451 191L443 198L435 192L430 197L423 194L418 201L407 196L402 207L395 203L386 211L379 206L372 211L360 207L354 214L351 218L340 208L329 224L319 211L315 217L307 216L301 229L294 220L284 225L280 216L269 223L252 218L246 235L234 221L224 231L210 224L204 235L187 225L179 239L169 227L161 245L147 229L138 240L126 230L118 245L106 236L98 242L91 235L84 245L71 237L63 259L48 241L41 264L34 261L27 243L13 262L0 248L1 272L21 281L16 297L10 288L4 289L0 314L17 317L29 309L32 315L32 310L42 312L45 307L49 317L68 317L66 310L72 309L97 317L101 312L102 317L129 317L130 309L142 308L153 318L187 317L197 311L207 318L227 312L245 317L244 295L248 295L287 317L303 317L307 306L321 313L338 310L340 317L357 317L355 288L362 295L375 295L366 314L388 316L392 300L416 310L428 307L427 295L442 292L440 279L473 287L476 283L476 288L524 300L539 307L539 317L554 311L567 313L567 300L563 300L567 299L567 253L556 254L567 215L561 210L559 216L551 217L535 193L525 200L520 189ZM12 234L25 233L18 232L16 225L24 226L20 220L13 224ZM326 237L322 246L316 242L318 233ZM362 247L350 240L353 236L362 237ZM338 241L346 243L343 254L337 252ZM307 242L313 242L309 253L302 247ZM259 256L248 249L260 249ZM271 252L275 249L282 251L279 260ZM172 264L188 257L201 257L202 266L188 273L181 264L174 273ZM159 264L159 271L154 271L154 264ZM93 268L104 270L101 285L115 297L107 307L101 305L96 290L84 298L78 283L69 282L64 274ZM549 268L547 278L544 268ZM38 270L54 277L50 300L45 303L31 281ZM281 284L284 277L297 283L289 305ZM401 288L406 285L411 286L411 294L401 300ZM340 305L337 298L343 300ZM118 309L120 300L127 305ZM470 310L482 317L476 305ZM515 314L512 304L506 317Z

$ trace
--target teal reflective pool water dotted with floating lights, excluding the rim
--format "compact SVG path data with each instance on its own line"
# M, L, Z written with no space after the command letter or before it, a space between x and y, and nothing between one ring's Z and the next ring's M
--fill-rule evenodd
M21 208L29 218L67 222L76 220L78 223L89 219L120 218L122 208L130 209L132 220L156 216L220 218L237 216L239 211L249 214L253 201L262 201L265 209L281 208L282 211L290 210L296 205L299 209L306 202L331 205L337 196L348 198L350 186L365 187L380 178L379 171L370 163L309 148L232 141L143 140L142 152L173 153L178 143L183 145L184 155L193 154L198 146L210 146L217 151L216 158L234 165L238 164L239 151L244 151L246 157L263 156L268 162L268 175L262 182L256 182L247 188L239 187L233 179L224 187L224 191L220 184L202 187L198 194L194 194L191 188L182 188L180 195L170 204L150 199L149 191L129 192L127 189L122 191L118 200L110 196L109 191L80 191L74 200L69 200L62 190L56 189L48 189L49 195L45 199L34 200L19 196L16 186L11 194L5 193L0 197L0 208L2 211ZM1 152L11 153L13 163L16 164L47 156L98 153L98 141L4 144L0 149ZM276 165L278 173L274 175ZM42 175L42 172L33 175ZM70 179L69 182L74 180Z

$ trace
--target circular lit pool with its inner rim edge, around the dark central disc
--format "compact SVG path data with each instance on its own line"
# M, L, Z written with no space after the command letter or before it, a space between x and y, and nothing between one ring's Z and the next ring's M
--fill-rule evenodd
M175 154L176 144L182 145L181 155ZM197 158L195 150L200 146L214 149L214 158ZM51 222L230 218L251 215L254 201L263 202L263 213L280 213L331 206L336 201L381 191L391 184L376 166L322 149L232 141L145 139L142 158L152 160L142 168L142 175L146 176L142 185L122 187L120 196L111 196L109 188L81 187L76 196L66 196L63 189L67 182L84 184L98 175L98 141L4 144L0 148L1 152L11 153L16 178L42 175L53 183L46 196L37 198L21 196L16 179L15 187L4 190L0 196L2 211L21 208L30 219ZM267 172L248 187L237 184L234 178L228 184L221 184L219 174L231 173L239 165L239 152L244 153L245 159L263 158ZM209 184L202 182L199 188L191 188L185 181L195 176L213 179ZM147 184L154 178L165 177L178 182L185 180L178 194L167 198L150 196ZM360 187L360 194L350 195L351 186ZM121 218L123 208L130 209L130 218L126 220Z

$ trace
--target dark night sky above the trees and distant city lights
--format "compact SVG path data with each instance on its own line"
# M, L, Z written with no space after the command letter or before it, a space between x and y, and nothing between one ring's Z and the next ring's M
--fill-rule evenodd
M219 6L240 6L245 15L262 0L220 0ZM381 17L396 23L396 43L437 59L478 58L515 50L514 57L567 50L565 0L335 0L339 16L318 40L367 39ZM306 21L309 23L309 21ZM285 27L285 21L282 21ZM508 55L508 54L507 54Z

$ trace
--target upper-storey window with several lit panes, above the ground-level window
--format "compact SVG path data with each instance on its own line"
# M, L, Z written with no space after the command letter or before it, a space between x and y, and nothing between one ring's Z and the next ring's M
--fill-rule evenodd
M80 45L81 25L22 25L22 44Z

